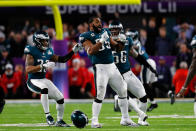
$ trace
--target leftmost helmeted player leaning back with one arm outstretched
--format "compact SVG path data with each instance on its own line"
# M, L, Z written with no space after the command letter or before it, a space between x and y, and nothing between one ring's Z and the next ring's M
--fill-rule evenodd
M45 78L46 70L55 66L54 62L65 63L77 52L81 46L76 44L72 51L65 56L57 56L53 49L49 47L49 35L46 32L39 31L33 35L34 46L26 46L25 69L28 73L27 86L32 92L41 94L41 103L46 115L46 121L49 125L69 127L63 121L64 97L58 88ZM56 101L57 122L54 122L49 110L49 98Z

